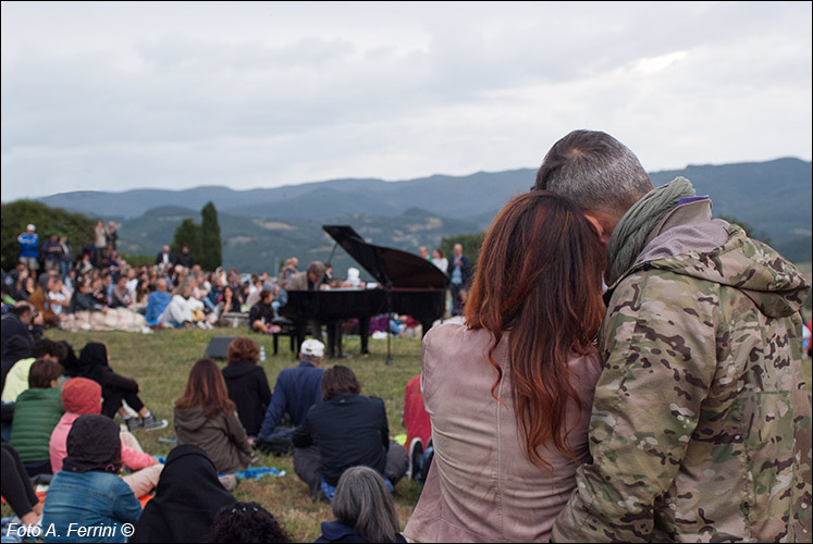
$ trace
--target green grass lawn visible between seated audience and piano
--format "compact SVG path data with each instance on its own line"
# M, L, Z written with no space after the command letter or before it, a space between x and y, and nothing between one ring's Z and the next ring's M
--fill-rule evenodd
M241 330L245 334L246 330ZM145 452L167 456L172 445L158 442L159 437L174 436L172 407L181 396L193 363L204 356L212 336L231 336L237 333L231 329L214 331L160 331L150 335L107 332L67 333L49 331L46 336L52 339L66 339L78 351L87 342L103 342L110 353L110 366L120 374L133 378L141 386L141 399L158 418L170 421L167 429L138 431ZM296 364L295 356L288 349L287 338L281 338L280 354L273 356L271 337L247 334L266 347L267 359L260 366L266 370L273 387L276 374L284 368ZM362 394L375 395L384 399L390 420L390 433L404 433L401 417L404 408L404 388L407 382L420 372L420 341L396 338L392 342L392 363L386 364L386 341L370 339L370 356L358 355L358 338L345 337L343 349L353 358L342 359L341 364L349 367L362 384ZM218 361L222 367L225 361ZM340 363L335 360L335 363ZM334 360L325 360L331 367ZM330 505L315 504L310 499L307 485L294 473L291 456L266 456L260 454L260 467L276 467L285 470L282 478L264 477L254 481L242 481L234 495L238 500L256 500L272 512L297 542L313 542L320 534L320 523L330 521L333 516ZM402 480L393 497L401 519L402 529L418 502L421 486Z

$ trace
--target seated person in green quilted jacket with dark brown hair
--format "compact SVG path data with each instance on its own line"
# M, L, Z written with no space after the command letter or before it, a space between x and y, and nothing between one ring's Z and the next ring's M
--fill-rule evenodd
M14 420L9 443L23 460L28 474L51 473L48 441L65 409L60 398L59 379L62 366L47 359L32 364L28 388L20 394L14 404Z

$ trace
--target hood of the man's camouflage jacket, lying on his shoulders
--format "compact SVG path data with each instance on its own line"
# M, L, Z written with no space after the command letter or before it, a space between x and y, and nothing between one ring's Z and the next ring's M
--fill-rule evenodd
M641 254L639 260L643 262L629 272L654 268L734 287L771 318L798 312L810 294L810 284L799 270L769 246L749 238L740 226L724 224L727 225L727 240L715 249L689 250L646 260L648 254L655 255L651 251L653 244L663 246L664 240L658 238L686 234L666 231Z

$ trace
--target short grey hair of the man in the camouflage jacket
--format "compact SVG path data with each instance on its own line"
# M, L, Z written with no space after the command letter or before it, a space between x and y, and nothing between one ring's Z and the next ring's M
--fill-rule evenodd
M623 214L652 190L638 157L611 135L574 131L553 145L532 189L569 198L582 210Z

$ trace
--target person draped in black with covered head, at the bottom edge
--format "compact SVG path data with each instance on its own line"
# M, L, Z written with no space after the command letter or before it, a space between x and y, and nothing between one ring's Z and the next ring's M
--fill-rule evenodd
M130 542L204 542L215 514L234 503L206 452L192 444L175 446Z

